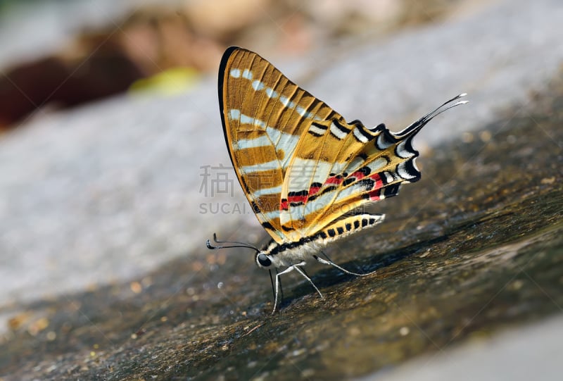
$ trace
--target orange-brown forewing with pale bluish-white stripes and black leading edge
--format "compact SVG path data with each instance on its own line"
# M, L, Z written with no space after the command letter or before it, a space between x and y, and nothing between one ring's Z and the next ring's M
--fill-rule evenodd
M289 163L313 121L341 120L341 115L239 47L223 55L219 104L227 149L256 217L276 242L291 240L279 220Z

